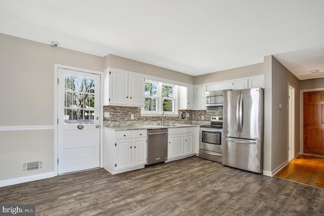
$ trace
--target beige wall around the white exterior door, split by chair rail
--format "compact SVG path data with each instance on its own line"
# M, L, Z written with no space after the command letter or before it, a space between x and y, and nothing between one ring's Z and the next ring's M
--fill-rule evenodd
M103 70L103 58L0 33L0 127L54 126L54 64ZM0 131L0 180L54 171L54 130ZM21 172L25 162L43 169Z

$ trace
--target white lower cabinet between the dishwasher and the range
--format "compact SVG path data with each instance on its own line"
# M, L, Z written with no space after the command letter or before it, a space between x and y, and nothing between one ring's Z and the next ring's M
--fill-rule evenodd
M195 127L168 129L168 161L195 154Z

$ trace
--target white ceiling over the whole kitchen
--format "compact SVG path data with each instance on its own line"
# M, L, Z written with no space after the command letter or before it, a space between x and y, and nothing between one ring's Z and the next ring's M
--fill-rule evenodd
M0 32L193 76L267 55L301 74L324 70L323 9L323 0L0 0ZM299 79L311 76L324 72Z

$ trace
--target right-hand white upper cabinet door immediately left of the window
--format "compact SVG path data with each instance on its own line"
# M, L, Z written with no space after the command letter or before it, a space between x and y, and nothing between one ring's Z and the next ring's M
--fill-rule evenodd
M144 88L144 77L130 75L129 105L144 106Z

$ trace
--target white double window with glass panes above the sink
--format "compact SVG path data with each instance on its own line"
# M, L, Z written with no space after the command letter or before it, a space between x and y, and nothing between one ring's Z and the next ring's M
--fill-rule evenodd
M163 112L178 115L176 85L156 81L145 81L145 106L142 114L160 115Z

